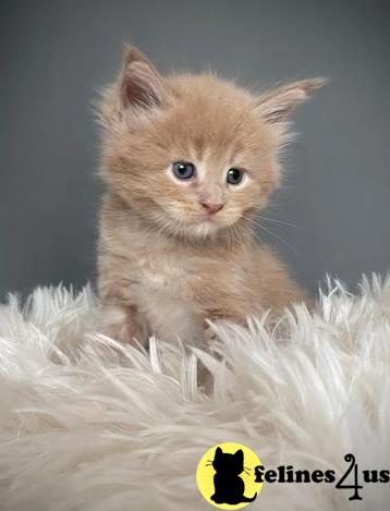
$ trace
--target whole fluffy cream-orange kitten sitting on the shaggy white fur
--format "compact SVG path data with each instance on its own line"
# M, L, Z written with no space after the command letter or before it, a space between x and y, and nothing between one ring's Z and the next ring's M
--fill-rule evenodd
M322 85L254 96L212 74L161 76L134 47L103 94L98 290L122 341L204 339L207 319L246 317L304 294L254 216L279 183L288 117Z

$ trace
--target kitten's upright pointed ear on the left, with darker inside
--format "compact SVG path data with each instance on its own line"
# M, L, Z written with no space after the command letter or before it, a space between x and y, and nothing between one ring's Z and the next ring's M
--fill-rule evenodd
M123 49L123 66L119 78L119 109L161 107L168 99L163 77L134 46Z

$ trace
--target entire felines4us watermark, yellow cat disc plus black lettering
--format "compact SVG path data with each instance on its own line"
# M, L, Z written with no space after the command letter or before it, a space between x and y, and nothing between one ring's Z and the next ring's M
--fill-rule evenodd
M258 457L241 443L224 442L211 447L200 459L196 483L203 497L220 509L241 509L253 502L263 484L328 484L349 491L348 499L363 500L366 485L389 484L390 470L365 467L352 453L344 455L346 466L295 469L293 465L266 467ZM345 494L344 494L345 495Z

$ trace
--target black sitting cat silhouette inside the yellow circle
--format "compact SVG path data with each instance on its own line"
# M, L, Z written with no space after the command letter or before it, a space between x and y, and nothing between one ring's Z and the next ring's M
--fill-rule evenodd
M216 503L237 504L241 502L253 502L257 492L247 498L244 496L245 483L240 477L244 471L244 452L242 449L234 454L223 452L217 447L212 460L212 467L216 471L214 475L215 492L210 497Z

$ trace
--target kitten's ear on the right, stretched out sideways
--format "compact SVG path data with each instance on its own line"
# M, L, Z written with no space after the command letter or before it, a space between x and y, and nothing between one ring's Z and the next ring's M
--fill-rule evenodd
M263 94L256 101L256 111L270 124L284 122L300 102L326 83L325 78L312 78L282 85Z

